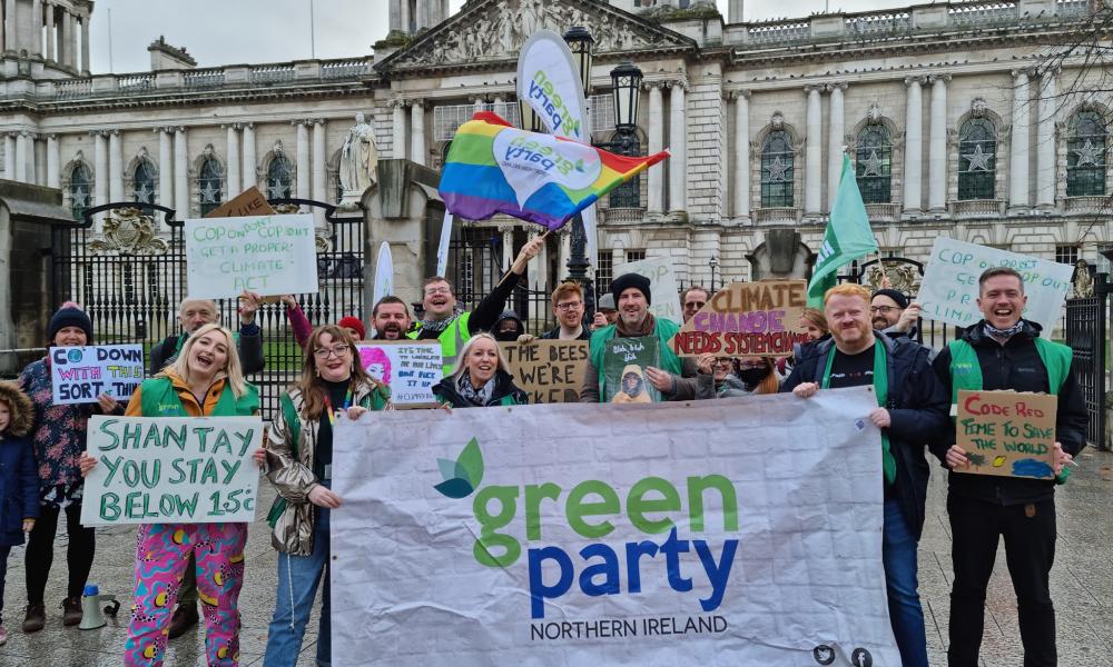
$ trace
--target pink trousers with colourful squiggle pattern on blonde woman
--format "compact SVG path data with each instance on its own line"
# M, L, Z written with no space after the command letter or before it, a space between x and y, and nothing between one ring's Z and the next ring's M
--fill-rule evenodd
M158 667L193 551L209 665L239 664L239 589L247 524L145 524L136 535L136 595L124 645L127 667Z

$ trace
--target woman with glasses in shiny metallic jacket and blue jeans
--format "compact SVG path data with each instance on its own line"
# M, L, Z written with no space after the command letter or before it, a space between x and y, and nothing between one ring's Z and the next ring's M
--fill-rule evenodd
M322 576L317 665L332 660L328 514L341 506L331 490L333 427L342 411L358 419L367 410L386 409L391 397L385 385L366 374L355 340L338 326L317 327L305 350L302 379L283 394L266 447L267 479L278 490L267 520L270 542L279 552L266 667L297 663Z

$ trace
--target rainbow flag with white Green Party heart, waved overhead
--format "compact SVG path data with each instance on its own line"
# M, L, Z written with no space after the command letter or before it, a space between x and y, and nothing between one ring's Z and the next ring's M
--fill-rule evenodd
M460 126L441 176L449 212L469 220L505 213L558 229L650 165L578 141L528 132L481 111Z

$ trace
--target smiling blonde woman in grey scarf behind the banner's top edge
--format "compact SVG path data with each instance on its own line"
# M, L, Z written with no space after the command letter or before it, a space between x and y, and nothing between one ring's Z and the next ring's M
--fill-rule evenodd
M524 406L525 391L518 388L499 342L490 334L476 334L460 351L460 364L433 387L437 402L450 408Z

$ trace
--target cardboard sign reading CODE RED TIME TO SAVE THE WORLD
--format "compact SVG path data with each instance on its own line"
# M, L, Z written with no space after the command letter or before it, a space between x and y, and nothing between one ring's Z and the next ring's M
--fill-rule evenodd
M956 442L971 465L955 472L1054 479L1057 408L1046 394L959 391Z

